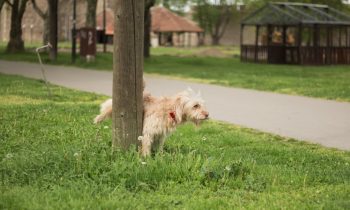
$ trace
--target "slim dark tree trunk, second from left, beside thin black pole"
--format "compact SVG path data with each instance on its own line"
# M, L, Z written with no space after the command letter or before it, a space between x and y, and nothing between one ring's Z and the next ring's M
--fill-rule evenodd
M52 48L50 49L49 57L51 61L57 59L57 22L58 22L58 0L49 1L49 39Z

